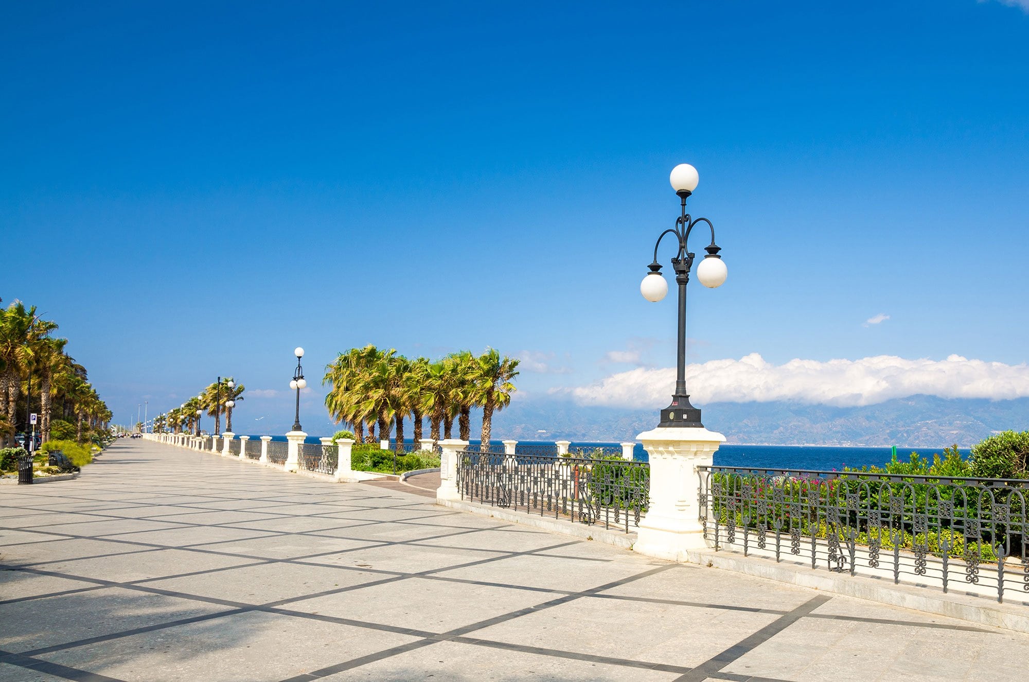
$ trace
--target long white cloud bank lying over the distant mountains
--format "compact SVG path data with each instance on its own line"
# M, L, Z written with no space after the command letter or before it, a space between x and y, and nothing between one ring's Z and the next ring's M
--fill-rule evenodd
M553 389L591 405L653 407L672 395L675 369L638 368L597 383ZM797 401L835 406L874 405L916 394L1006 400L1029 397L1029 366L950 355L945 361L876 355L860 360L791 360L772 365L757 353L686 367L699 404Z

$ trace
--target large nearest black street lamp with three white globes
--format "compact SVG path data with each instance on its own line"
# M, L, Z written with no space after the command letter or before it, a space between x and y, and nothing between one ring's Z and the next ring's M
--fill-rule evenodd
M669 181L675 194L679 195L682 202L682 214L675 218L675 227L665 230L658 237L658 243L653 245L653 263L648 268L650 272L643 277L640 282L640 294L647 301L658 302L668 294L668 282L661 274L661 265L658 263L658 247L661 240L666 235L675 235L679 242L679 250L672 259L672 269L675 271L675 282L679 285L679 347L678 365L675 375L675 394L672 396L672 404L661 411L661 423L659 427L697 427L703 428L701 423L701 411L689 404L689 395L686 393L686 283L689 281L689 270L694 266L694 253L686 248L686 241L689 233L698 223L707 224L711 230L711 244L705 246L707 255L697 266L697 279L708 288L721 286L725 281L728 270L718 251L721 249L714 243L714 226L706 217L691 217L686 212L686 199L697 189L700 177L697 169L689 164L679 164L672 169Z

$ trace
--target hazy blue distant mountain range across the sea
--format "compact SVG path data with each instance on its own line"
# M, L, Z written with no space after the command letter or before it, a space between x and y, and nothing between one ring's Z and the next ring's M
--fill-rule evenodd
M969 447L1007 430L1029 430L1029 398L1006 401L911 396L865 407L789 402L711 403L704 425L729 443ZM633 440L657 425L658 409L619 410L547 399L516 399L497 413L493 438ZM474 421L473 421L474 423ZM541 433L542 432L542 433Z

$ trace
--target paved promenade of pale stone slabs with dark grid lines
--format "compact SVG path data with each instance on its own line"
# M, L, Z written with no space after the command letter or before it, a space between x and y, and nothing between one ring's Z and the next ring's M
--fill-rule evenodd
M120 441L0 487L0 682L1020 679L1029 637Z

